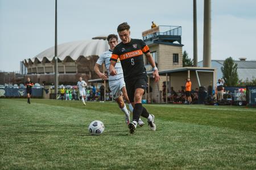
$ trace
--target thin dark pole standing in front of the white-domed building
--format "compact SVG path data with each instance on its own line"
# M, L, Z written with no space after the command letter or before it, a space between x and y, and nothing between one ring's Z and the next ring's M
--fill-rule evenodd
M54 52L54 71L55 71L55 99L57 99L58 94L58 57L57 57L57 0L55 0L55 52Z

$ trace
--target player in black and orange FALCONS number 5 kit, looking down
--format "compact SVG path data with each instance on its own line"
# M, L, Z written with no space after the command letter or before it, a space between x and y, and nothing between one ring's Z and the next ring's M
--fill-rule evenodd
M118 59L120 59L127 94L134 107L133 122L129 123L128 128L130 133L134 133L139 117L142 116L147 118L150 129L156 130L154 115L149 114L146 108L142 107L142 96L147 87L147 74L143 62L143 53L154 70L155 82L159 82L160 77L155 61L150 54L148 46L142 40L130 38L130 25L127 23L119 24L117 32L122 42L115 46L113 50L109 71L110 75L117 75L114 66Z

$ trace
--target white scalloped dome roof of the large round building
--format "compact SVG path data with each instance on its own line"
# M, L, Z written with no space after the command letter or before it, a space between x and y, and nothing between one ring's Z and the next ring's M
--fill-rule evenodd
M57 46L57 57L63 61L66 57L71 57L74 61L80 56L100 56L101 53L109 49L108 42L103 39L93 39L84 41L72 41ZM44 50L33 58L24 59L24 62L31 60L34 63L35 59L42 62L43 58L47 58L52 61L54 57L55 47Z

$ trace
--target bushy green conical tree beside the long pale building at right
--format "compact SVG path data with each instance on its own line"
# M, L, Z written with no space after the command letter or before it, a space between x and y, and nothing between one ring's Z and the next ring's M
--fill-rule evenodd
M226 58L223 67L221 67L225 86L237 86L238 74L237 63L234 62L232 57Z

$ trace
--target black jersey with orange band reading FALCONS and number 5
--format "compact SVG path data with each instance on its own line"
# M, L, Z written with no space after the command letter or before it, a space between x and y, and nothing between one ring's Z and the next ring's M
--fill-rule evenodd
M125 81L146 77L143 53L150 52L144 41L131 39L127 44L120 42L115 46L110 60L115 62L120 59Z

